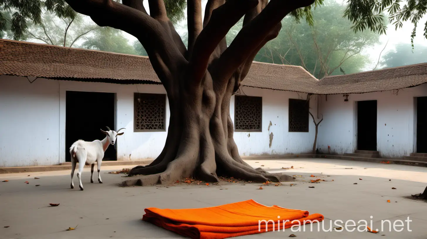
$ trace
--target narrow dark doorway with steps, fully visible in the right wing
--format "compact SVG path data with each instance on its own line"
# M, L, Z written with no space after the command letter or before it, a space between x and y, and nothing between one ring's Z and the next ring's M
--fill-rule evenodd
M377 101L357 102L357 149L377 151Z

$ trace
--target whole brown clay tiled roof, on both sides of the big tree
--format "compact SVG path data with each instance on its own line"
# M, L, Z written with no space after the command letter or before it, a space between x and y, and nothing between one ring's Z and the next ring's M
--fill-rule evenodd
M0 75L161 84L145 56L0 40ZM254 61L243 86L314 94L366 93L427 82L427 63L316 79L300 66Z

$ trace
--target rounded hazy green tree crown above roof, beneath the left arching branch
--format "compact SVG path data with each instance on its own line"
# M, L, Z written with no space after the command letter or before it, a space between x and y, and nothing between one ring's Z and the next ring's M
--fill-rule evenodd
M91 37L86 38L81 47L90 50L137 54L123 32L111 27L103 27L92 32Z

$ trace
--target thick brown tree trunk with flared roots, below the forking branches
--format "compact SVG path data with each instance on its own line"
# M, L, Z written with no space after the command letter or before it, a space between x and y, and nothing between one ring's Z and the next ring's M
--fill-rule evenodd
M161 154L148 166L131 170L123 186L170 184L186 177L218 182L219 176L247 181L278 182L268 172L255 170L239 155L234 142L230 99L235 80L226 85L213 84L207 73L200 89L179 87L168 95L170 125Z

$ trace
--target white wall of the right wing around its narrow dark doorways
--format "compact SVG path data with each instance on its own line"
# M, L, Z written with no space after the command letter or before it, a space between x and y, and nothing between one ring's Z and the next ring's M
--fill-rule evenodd
M325 119L319 125L318 147L322 152L352 153L357 142L357 101L377 100L377 150L382 157L409 156L415 152L415 97L427 96L427 84L363 94L321 96L319 113Z

